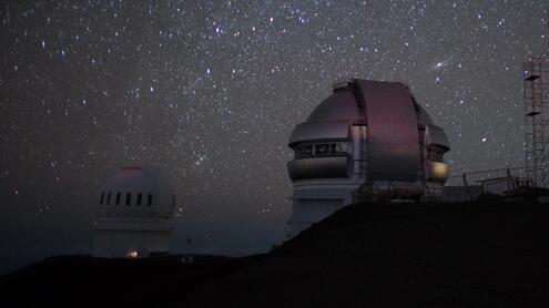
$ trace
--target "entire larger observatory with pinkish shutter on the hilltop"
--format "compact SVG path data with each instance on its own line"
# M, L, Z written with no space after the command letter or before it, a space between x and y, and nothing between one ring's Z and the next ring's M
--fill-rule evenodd
M446 133L398 82L334 84L288 146L291 237L347 204L439 199L448 177Z

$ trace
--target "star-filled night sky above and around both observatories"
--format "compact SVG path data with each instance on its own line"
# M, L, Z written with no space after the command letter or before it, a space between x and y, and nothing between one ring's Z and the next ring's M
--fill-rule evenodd
M522 61L537 1L4 1L0 264L91 250L119 166L159 166L173 249L284 238L293 126L342 79L409 84L446 129L453 174L522 165Z

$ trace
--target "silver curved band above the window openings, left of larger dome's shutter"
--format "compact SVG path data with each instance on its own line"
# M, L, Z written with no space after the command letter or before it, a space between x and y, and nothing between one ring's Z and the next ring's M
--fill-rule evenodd
M289 145L311 140L335 140L348 137L348 121L305 122L295 126L289 136Z

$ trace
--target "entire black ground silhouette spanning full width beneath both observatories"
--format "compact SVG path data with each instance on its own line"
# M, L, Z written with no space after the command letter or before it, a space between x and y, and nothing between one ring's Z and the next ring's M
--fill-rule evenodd
M270 255L45 259L0 307L549 307L549 204L352 205Z

